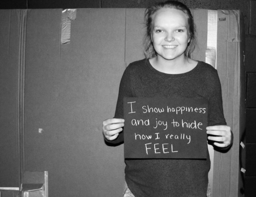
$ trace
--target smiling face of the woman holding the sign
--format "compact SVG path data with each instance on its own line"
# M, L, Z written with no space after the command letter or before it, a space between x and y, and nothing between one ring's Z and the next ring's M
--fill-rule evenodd
M153 16L151 38L157 58L184 59L184 51L189 43L187 15L174 8L158 10Z

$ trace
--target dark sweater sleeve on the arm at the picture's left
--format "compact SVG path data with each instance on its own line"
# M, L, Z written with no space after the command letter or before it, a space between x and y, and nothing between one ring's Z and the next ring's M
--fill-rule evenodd
M123 108L124 97L133 97L131 83L130 83L129 66L125 69L124 74L121 78L119 92L118 92L118 98L117 98L117 104L116 104L116 112L115 112L114 118L124 118L124 108ZM125 122L124 122L124 125L125 125ZM110 144L123 143L124 142L124 128L123 128L123 131L121 131L119 133L119 135L116 139L114 139L114 140L108 140L106 138L104 138L104 139L107 143L110 143Z

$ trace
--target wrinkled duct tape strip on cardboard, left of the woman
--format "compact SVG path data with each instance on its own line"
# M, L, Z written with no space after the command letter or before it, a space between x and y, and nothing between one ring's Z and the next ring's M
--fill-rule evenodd
M64 9L61 16L61 44L69 44L71 21L76 19L76 9Z

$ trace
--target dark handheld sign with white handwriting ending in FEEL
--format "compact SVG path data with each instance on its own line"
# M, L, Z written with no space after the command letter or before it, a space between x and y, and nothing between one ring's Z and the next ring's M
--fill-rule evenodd
M124 157L205 159L206 99L124 98Z

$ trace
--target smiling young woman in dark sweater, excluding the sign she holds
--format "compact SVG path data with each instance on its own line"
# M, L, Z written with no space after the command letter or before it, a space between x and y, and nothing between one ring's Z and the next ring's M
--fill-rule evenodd
M186 5L166 1L145 13L146 59L131 63L120 82L114 118L103 121L109 143L124 141L124 97L205 98L208 100L209 140L229 148L232 132L222 108L217 70L190 58L195 47L193 17ZM124 128L124 131L123 131ZM125 142L124 142L125 143ZM203 142L202 142L203 143ZM125 196L206 197L210 158L207 159L125 159Z

